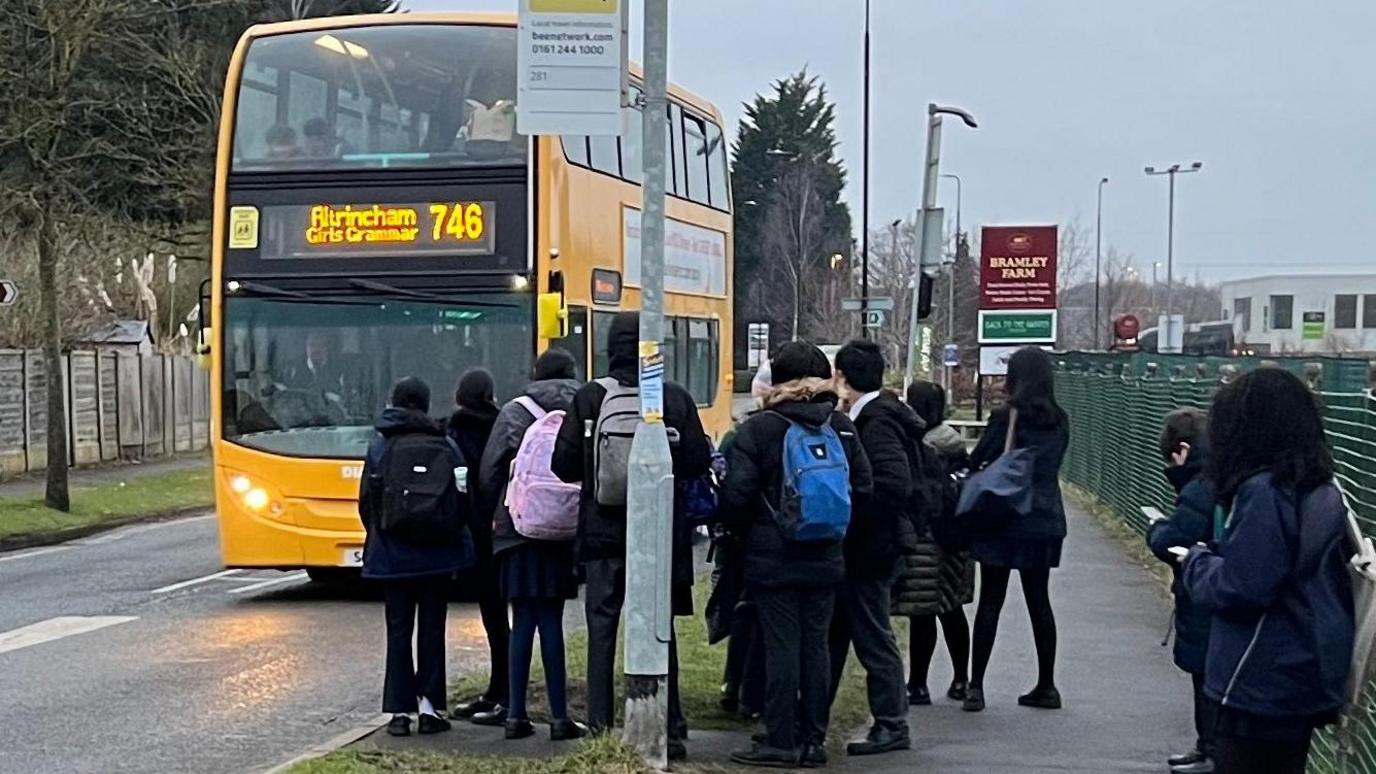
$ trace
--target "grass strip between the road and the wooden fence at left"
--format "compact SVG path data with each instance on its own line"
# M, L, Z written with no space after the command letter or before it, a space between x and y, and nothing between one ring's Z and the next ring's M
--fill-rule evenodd
M0 500L0 540L62 532L136 516L169 514L213 503L211 471L132 477L128 482L72 488L72 511L43 505L43 497Z

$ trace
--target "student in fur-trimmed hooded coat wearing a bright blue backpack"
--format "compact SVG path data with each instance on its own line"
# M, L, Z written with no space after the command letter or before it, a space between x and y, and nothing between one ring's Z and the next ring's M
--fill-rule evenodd
M746 766L826 764L837 587L854 499L872 490L850 419L837 412L831 364L790 342L771 362L764 410L736 432L721 514L746 545L744 583L765 647L765 734L731 757ZM901 675L900 675L901 690Z

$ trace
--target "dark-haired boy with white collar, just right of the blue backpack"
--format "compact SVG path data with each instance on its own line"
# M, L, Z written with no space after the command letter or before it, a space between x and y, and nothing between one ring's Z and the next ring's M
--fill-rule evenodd
M850 755L908 749L908 697L903 682L903 653L889 618L890 592L903 540L914 541L914 461L926 426L893 393L883 390L883 353L879 344L854 340L837 353L837 386L849 406L846 416L860 434L860 445L874 477L874 493L854 503L846 532L846 580L831 618L831 695L835 698L854 645L864 665L874 726L864 741L852 742Z

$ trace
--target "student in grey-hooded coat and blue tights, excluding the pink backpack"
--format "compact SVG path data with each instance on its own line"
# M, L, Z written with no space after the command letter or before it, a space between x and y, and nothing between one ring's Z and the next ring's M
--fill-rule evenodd
M581 384L574 357L560 348L546 350L535 361L534 380L523 398L545 412L567 412ZM534 540L516 532L506 508L510 467L526 432L535 424L535 415L512 401L497 415L497 426L479 470L479 492L494 504L493 552L502 598L502 614L510 603L515 631L510 638L510 697L506 738L520 740L535 733L526 711L530 660L539 634L539 656L545 665L549 697L550 730L555 741L585 734L583 726L568 718L567 671L564 667L564 603L578 596L571 540Z

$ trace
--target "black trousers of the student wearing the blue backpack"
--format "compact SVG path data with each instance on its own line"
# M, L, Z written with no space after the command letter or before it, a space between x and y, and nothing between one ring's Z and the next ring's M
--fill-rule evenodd
M758 589L760 632L765 646L765 731L769 746L798 749L827 738L831 711L831 654L827 635L835 591ZM901 690L903 675L899 675ZM802 738L798 738L798 734Z

